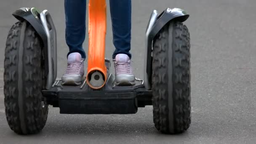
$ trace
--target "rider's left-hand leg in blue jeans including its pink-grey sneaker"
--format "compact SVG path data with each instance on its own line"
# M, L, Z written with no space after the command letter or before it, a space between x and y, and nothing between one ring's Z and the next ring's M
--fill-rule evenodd
M80 85L84 75L86 0L65 0L68 64L61 80L64 85Z

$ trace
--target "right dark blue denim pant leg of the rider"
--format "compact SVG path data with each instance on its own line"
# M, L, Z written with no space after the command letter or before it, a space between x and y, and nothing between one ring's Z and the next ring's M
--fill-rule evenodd
M109 0L109 4L115 45L112 58L119 53L131 58L131 0Z

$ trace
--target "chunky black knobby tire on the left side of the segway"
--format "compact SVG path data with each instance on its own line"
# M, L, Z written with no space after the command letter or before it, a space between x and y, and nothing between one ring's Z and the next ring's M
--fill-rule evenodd
M45 126L48 105L42 101L43 43L27 22L17 22L9 31L4 61L5 114L11 130L34 134Z

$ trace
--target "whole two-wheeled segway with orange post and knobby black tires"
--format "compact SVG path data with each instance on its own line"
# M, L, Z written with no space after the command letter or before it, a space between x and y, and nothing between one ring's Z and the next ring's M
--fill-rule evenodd
M144 80L115 85L105 59L106 3L89 1L87 75L81 85L56 79L56 28L47 10L20 8L9 31L4 61L5 114L18 134L40 132L48 105L60 114L135 114L153 105L153 121L162 133L182 133L191 123L190 38L183 24L189 15L166 8L150 16L145 36Z

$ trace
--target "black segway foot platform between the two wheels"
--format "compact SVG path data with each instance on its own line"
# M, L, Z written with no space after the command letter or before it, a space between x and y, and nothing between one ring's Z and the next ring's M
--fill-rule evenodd
M109 69L109 61L105 60ZM115 76L108 75L101 89L92 89L86 78L81 85L62 85L56 80L51 89L43 90L47 104L59 107L61 114L134 114L138 107L152 105L152 91L144 88L143 80L135 85L117 86Z

